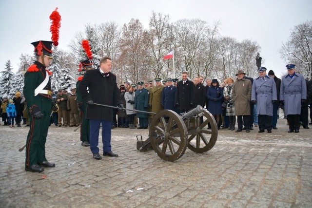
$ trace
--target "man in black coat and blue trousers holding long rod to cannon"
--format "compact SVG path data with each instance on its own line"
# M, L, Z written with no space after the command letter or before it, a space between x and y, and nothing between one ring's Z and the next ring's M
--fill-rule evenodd
M116 76L110 71L112 59L103 57L98 69L88 70L80 82L79 91L84 102L88 104L86 119L90 120L90 150L97 160L102 159L98 149L98 134L102 124L103 155L118 156L111 149L111 126L113 120L113 109L95 104L123 108L119 89L117 88ZM89 88L89 92L87 90Z

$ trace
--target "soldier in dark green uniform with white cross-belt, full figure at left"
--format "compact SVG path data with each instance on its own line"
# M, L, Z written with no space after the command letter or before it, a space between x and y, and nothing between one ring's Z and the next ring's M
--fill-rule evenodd
M37 60L24 78L23 94L27 101L30 129L26 141L25 170L42 172L43 167L55 167L45 157L45 142L50 125L51 80L46 70L52 61L52 41L39 40L31 43L35 47Z

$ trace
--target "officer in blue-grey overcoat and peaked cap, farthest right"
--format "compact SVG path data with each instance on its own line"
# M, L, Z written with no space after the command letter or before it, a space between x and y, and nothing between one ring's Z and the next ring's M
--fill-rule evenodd
M306 81L302 75L296 74L294 64L286 65L288 75L282 77L280 101L284 103L284 114L287 116L289 133L299 132L301 103L307 99Z

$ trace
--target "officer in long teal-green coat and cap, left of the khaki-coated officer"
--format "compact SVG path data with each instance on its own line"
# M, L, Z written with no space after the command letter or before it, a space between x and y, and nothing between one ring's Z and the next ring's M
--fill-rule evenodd
M135 109L139 111L147 111L148 101L149 101L149 93L148 90L143 88L144 82L138 82L138 90L135 95ZM139 125L137 129L147 129L148 128L148 118L147 113L137 112L137 117L139 120Z

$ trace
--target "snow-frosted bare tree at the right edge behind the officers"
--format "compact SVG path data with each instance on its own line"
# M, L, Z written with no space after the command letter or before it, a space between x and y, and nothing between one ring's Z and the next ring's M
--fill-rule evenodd
M296 25L280 50L288 63L298 65L304 76L312 78L312 20Z

